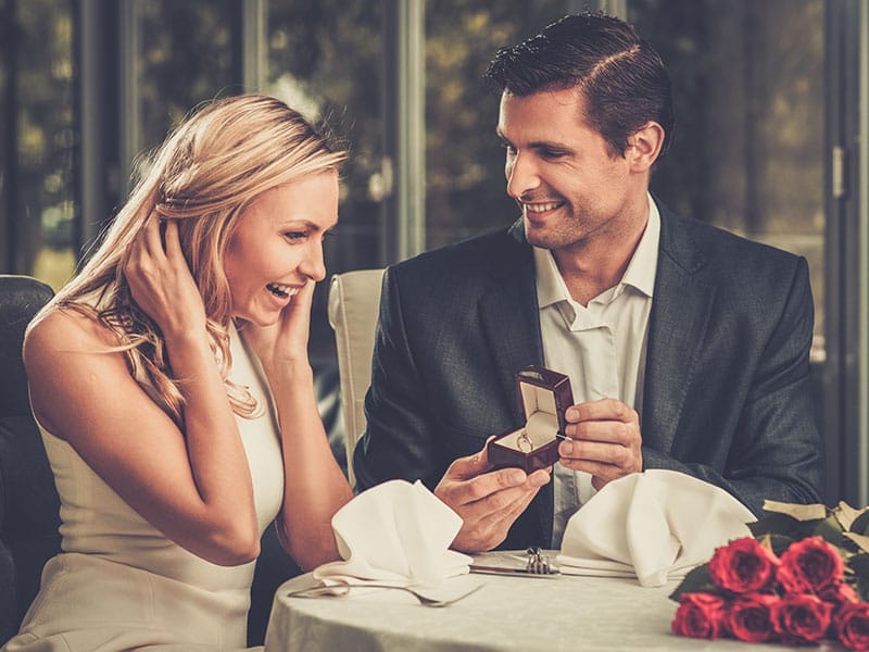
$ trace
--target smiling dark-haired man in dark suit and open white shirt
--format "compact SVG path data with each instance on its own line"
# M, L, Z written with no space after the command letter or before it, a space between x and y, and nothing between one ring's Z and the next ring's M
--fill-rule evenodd
M806 261L648 193L673 128L657 53L581 14L502 49L487 78L521 218L387 271L357 488L421 479L463 517L467 552L557 548L596 490L645 468L756 513L818 502ZM492 471L487 438L522 425L529 364L570 377L568 439L553 469Z

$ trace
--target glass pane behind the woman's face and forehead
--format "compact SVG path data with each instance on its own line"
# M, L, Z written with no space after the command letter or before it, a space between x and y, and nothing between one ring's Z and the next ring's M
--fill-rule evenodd
M325 121L351 148L342 171L340 221L325 248L329 274L382 265L381 2L295 0L268 5L265 90L311 121ZM312 358L331 360L328 284L317 286Z

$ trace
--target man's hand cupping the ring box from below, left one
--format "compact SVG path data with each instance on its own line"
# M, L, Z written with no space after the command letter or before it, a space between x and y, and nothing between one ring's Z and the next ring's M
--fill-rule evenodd
M526 475L520 468L491 468L483 447L475 455L454 461L434 488L434 496L462 517L462 529L453 539L455 550L482 552L501 543L538 490L550 481L549 469Z

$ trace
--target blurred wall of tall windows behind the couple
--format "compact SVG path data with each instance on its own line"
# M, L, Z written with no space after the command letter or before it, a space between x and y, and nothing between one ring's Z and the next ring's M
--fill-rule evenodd
M653 178L671 209L805 255L828 503L869 502L869 8L860 0L0 0L0 273L55 289L123 203L137 156L244 90L352 148L330 272L380 267L517 216L494 136L494 51L602 9L660 51L677 98ZM312 362L342 423L320 284Z

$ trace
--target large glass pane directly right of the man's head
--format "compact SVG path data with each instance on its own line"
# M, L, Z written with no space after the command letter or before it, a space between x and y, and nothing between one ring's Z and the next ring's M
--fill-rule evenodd
M822 0L631 0L667 64L676 139L652 190L685 216L805 255L823 360Z

